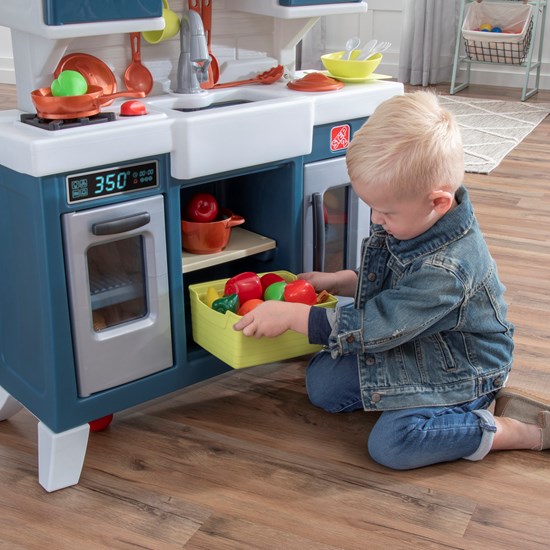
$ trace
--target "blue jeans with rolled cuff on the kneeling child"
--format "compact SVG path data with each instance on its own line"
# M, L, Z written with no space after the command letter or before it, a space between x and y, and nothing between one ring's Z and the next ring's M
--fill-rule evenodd
M357 359L337 360L319 353L306 370L311 402L328 412L363 410ZM481 460L490 451L496 431L486 410L496 392L468 403L384 411L368 441L376 462L395 470L410 470L459 458Z

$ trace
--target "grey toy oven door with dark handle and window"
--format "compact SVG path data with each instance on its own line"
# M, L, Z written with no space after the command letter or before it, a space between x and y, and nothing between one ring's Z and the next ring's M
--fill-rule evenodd
M79 395L173 365L164 199L63 215Z

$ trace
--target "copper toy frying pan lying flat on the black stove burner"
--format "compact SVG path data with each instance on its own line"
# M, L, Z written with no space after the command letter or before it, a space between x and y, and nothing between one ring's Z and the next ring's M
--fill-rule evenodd
M50 88L31 92L37 115L51 120L97 115L103 105L117 97L145 97L145 93L126 91L105 94L102 86L88 86L87 93L73 96L53 96Z

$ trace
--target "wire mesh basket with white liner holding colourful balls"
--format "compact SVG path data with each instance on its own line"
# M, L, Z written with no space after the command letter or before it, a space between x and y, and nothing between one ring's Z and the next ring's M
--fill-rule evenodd
M500 32L480 30L484 26ZM466 55L473 61L521 65L532 35L532 8L526 4L474 2L462 26Z

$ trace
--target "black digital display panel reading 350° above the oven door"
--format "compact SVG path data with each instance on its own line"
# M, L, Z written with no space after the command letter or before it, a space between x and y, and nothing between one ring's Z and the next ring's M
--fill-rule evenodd
M69 204L158 187L156 160L67 176Z

